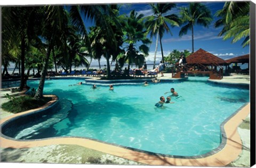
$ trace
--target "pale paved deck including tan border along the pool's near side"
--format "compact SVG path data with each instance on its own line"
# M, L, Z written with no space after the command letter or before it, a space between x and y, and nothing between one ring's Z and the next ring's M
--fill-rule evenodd
M168 78L168 75L160 78ZM2 100L6 98L1 98ZM119 160L121 162L114 161L102 161L97 162L98 164L147 164L147 165L179 165L179 166L235 166L235 167L250 167L250 104L247 104L241 111L232 117L226 124L225 130L227 135L227 145L218 153L213 154L205 158L197 159L181 159L181 158L170 158L163 156L148 155L145 153L136 152L134 150L124 149L109 144L102 144L101 142L92 141L83 138L53 138L45 140L35 141L15 141L1 137L1 156L4 156L4 160L1 157L2 162L23 162L23 163L95 163L81 162L83 157L109 157L112 160ZM1 123L13 117L14 114L4 112L1 109ZM241 124L242 123L242 124ZM238 125L240 125L238 127ZM242 126L241 126L242 125ZM238 129L236 129L238 127ZM249 131L249 134L247 134ZM241 138L240 138L241 137ZM242 140L242 141L241 141ZM81 149L84 153L94 153L97 156L87 156L84 153L74 154L72 148L77 150ZM83 146L83 147L81 147ZM65 148L66 151L58 148ZM242 150L243 149L243 150ZM82 152L81 151L81 152ZM86 152L87 151L87 152ZM47 153L47 157L43 158L42 153ZM228 152L228 153L227 153ZM247 153L245 153L247 152ZM20 157L14 156L20 153ZM31 158L31 153L38 155ZM40 154L41 153L41 154ZM249 154L248 154L249 153ZM56 157L56 155L63 157ZM13 157L12 157L13 156ZM30 156L30 157L29 157ZM65 157L64 157L65 156ZM80 158L75 159L73 156ZM54 159L51 159L51 158ZM99 160L101 160L99 157ZM69 158L69 159L67 159ZM91 159L93 160L93 159Z

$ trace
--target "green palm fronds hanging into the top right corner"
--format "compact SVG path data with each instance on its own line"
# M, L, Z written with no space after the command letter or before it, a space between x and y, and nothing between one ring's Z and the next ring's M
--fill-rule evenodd
M215 28L223 26L218 36L223 40L233 38L231 43L244 38L243 47L250 44L250 2L226 2L215 15L221 17L214 23Z

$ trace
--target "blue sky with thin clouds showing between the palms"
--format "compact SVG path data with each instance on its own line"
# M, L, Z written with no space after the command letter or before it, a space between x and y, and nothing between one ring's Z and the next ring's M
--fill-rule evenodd
M212 12L212 15L215 14L216 11L222 9L225 2L202 2ZM177 7L172 9L169 14L179 14L179 7L186 7L188 3L176 3ZM131 10L135 10L139 14L144 14L145 16L152 15L153 12L150 10L149 4L129 4L121 7L121 14L129 14ZM194 50L197 51L199 48L204 49L207 52L214 54L215 56L219 56L224 60L240 56L249 53L249 46L242 47L242 41L240 40L237 43L231 44L231 39L222 40L222 37L218 37L218 33L222 28L214 28L214 22L217 21L218 18L214 16L213 21L209 28L204 28L202 26L194 27ZM171 28L171 27L170 27ZM164 50L164 56L170 54L173 49L177 49L178 51L183 51L187 49L188 51L192 51L192 40L191 40L191 31L187 32L187 35L183 35L179 37L179 31L181 27L171 28L172 35L170 33L165 33L162 44ZM153 38L153 43L150 46L149 56L146 58L147 61L154 60L156 40ZM157 62L161 60L161 48L158 44L157 49Z

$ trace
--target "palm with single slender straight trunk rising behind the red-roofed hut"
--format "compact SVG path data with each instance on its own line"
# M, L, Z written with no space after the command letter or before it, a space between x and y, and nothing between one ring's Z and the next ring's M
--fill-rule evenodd
M210 9L201 3L189 3L188 7L180 8L182 23L185 24L179 32L179 36L186 35L188 30L192 32L192 53L194 53L194 26L202 25L208 28L212 21Z

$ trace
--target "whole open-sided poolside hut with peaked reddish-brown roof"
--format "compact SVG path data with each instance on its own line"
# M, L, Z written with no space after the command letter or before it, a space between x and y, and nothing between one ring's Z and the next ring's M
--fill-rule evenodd
M186 58L187 63L183 66L175 65L172 78L185 78L187 74L209 74L210 79L222 79L223 67L228 63L202 48L198 49Z

